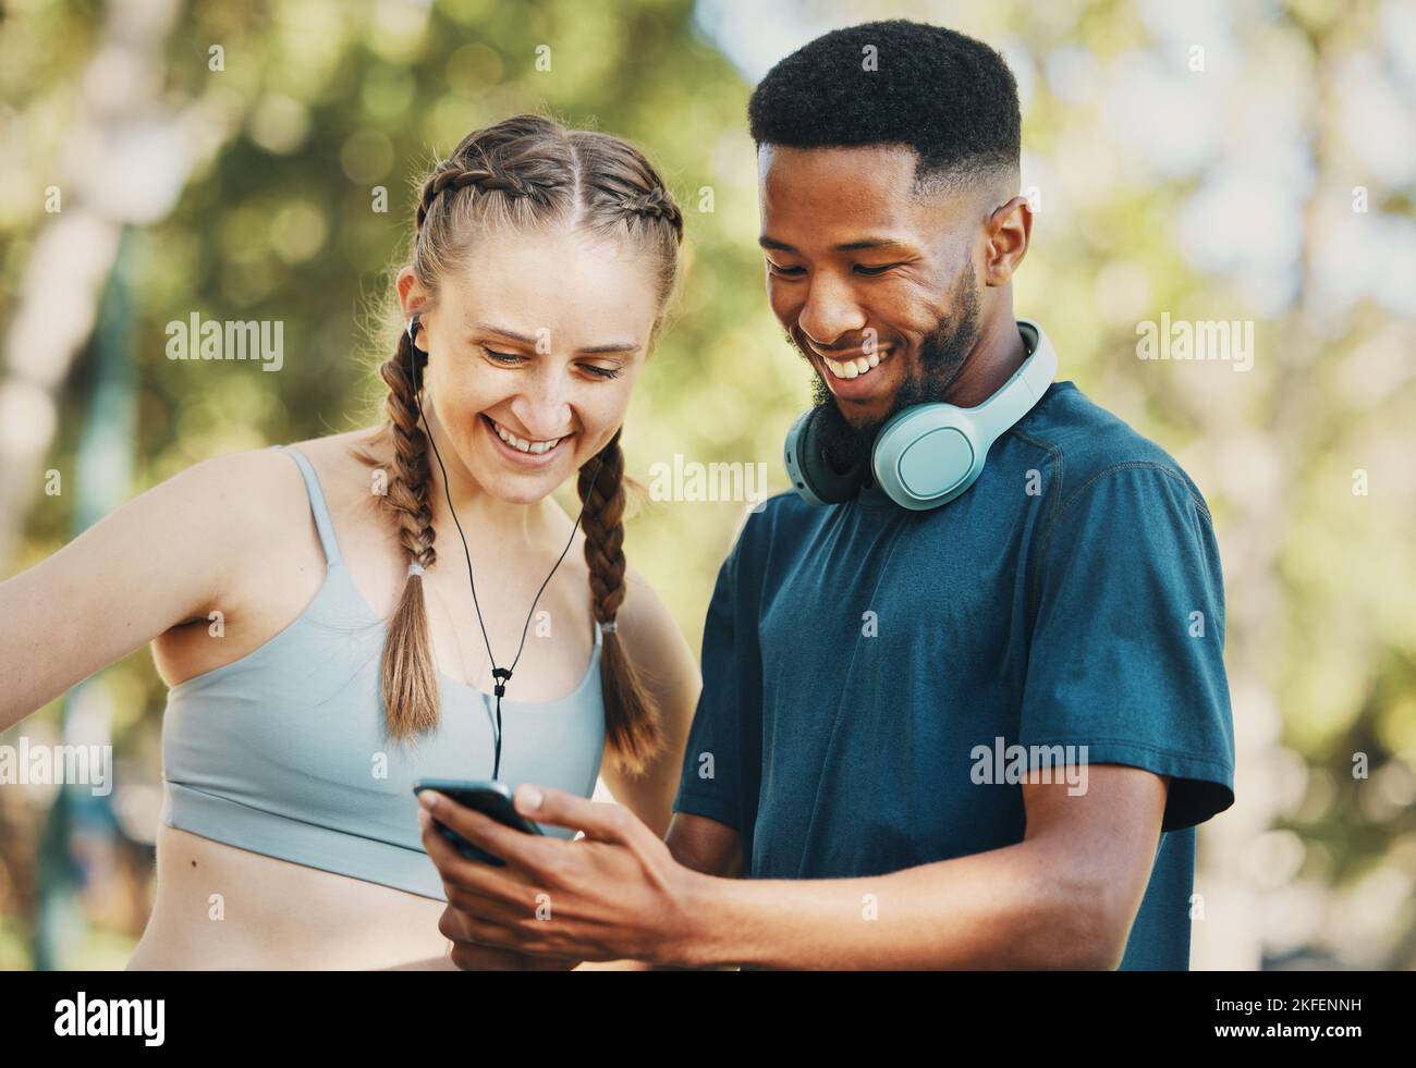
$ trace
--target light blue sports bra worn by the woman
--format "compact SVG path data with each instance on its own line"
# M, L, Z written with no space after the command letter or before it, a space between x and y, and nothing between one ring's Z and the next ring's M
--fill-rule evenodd
M163 822L296 864L445 901L423 850L421 778L491 775L489 693L439 672L440 726L416 745L384 733L387 625L354 586L320 480L299 450L324 583L300 617L238 661L173 686L163 720ZM501 699L501 779L590 796L605 750L600 628L576 689L554 702ZM547 835L573 830L547 825Z

